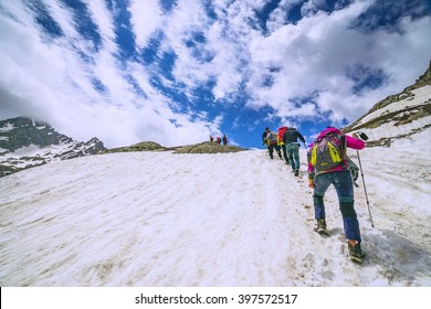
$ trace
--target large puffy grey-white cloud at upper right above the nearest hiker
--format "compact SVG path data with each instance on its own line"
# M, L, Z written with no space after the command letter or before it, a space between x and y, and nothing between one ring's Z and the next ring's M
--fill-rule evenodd
M306 116L302 107L290 106L290 98L306 97L320 93L317 105L322 110L334 110L334 120L359 117L376 103L392 92L406 87L414 79L406 78L403 72L418 76L429 61L431 43L424 31L430 19L406 22L404 34L375 32L361 34L349 29L350 22L362 12L370 1L360 1L332 14L317 13L301 20L296 25L278 28L266 38L256 38L250 43L255 76L249 83L254 94L254 106L269 104L278 110L278 116ZM420 38L419 40L417 40ZM276 51L276 52L275 52ZM416 58L416 64L412 60ZM419 63L418 63L419 62ZM347 79L346 68L356 63L371 68L381 68L390 83L364 96L354 93L353 81ZM416 72L411 65L418 67ZM273 85L260 87L259 72L277 67L271 73ZM409 67L409 70L407 70ZM350 104L355 102L355 104ZM340 108L340 105L345 105ZM283 107L281 107L283 106Z

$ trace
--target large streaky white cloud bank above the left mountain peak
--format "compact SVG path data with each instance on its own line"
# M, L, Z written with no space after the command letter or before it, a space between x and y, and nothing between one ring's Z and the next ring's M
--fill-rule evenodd
M0 77L4 92L1 97L8 98L8 110L3 107L2 115L44 119L75 139L97 136L108 147L145 139L167 146L207 140L210 122L172 111L169 99L150 85L144 66L130 61L118 63L113 17L103 2L93 1L88 6L103 41L96 53L75 30L69 10L56 1L50 1L48 6L64 32L64 36L50 44L42 41L29 10L19 4L8 7L17 21L0 15L2 29L8 30L1 33L0 43L0 62L4 73ZM139 29L138 25L135 28L137 32ZM143 46L144 33L137 36ZM92 61L83 62L77 52L84 52ZM137 81L147 98L135 93L126 75ZM94 89L93 78L103 84L105 94ZM176 125L168 119L176 119Z

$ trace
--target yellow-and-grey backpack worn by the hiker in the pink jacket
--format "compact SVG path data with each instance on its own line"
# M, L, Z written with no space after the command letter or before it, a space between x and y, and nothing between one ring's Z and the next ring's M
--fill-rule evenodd
M345 135L328 132L314 141L311 150L311 163L316 170L330 170L346 158L345 150Z

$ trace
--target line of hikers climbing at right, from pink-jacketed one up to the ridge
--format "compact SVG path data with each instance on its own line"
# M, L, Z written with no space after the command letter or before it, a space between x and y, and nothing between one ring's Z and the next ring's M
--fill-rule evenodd
M290 164L295 177L299 171L299 142L307 149L308 187L313 189L314 231L329 236L326 225L324 196L333 184L338 196L339 210L343 217L344 234L348 245L349 257L353 262L361 263L365 254L361 248L359 222L354 207L354 184L358 168L348 159L347 148L361 150L365 142L357 135L344 135L339 129L327 127L318 134L307 147L305 138L295 128L281 127L277 132L265 128L262 142L267 148L270 159L274 159L274 150L280 159ZM283 151L283 156L282 156Z

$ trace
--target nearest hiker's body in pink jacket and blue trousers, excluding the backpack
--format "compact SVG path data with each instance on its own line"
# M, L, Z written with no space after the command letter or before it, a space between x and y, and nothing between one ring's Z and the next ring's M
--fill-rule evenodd
M365 148L365 142L361 139L356 138L357 136L354 135L355 138L346 136L340 130L333 127L323 130L317 136L316 141L322 140L322 138L328 134L335 134L339 138L340 145L346 145L347 148L357 150ZM309 149L313 149L313 146L314 143L309 146ZM360 246L359 222L354 207L354 182L349 170L347 170L346 159L343 158L337 166L328 170L318 170L311 163L311 160L308 160L308 187L314 189L313 203L315 219L317 221L315 231L320 234L328 233L325 221L324 196L330 184L334 185L338 195L339 210L343 215L344 231L348 242L350 259L361 263L365 254Z

